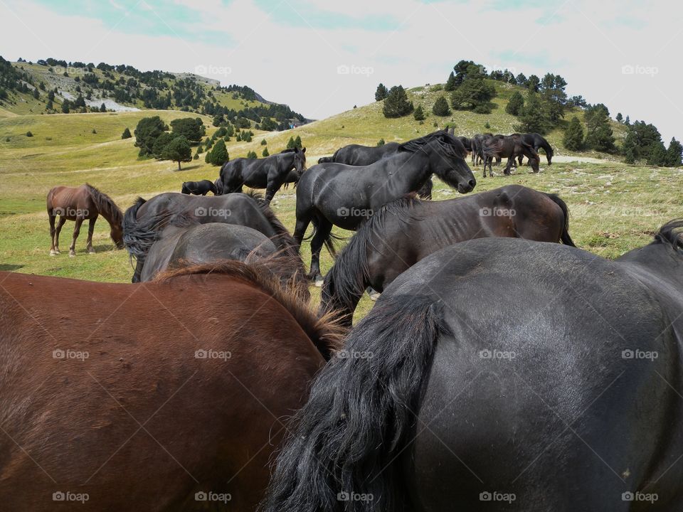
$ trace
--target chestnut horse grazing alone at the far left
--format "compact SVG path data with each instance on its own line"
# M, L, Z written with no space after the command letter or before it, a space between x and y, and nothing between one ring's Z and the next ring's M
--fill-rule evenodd
M59 233L67 220L73 220L73 240L69 247L69 256L76 255L76 238L80 234L80 225L88 219L88 242L85 250L88 254L95 252L92 247L92 233L95 231L97 217L107 220L110 225L110 236L117 249L123 248L123 229L121 210L112 198L85 183L78 187L55 186L50 189L47 197L48 216L50 218L50 255L58 255ZM59 215L59 222L55 228L55 219Z

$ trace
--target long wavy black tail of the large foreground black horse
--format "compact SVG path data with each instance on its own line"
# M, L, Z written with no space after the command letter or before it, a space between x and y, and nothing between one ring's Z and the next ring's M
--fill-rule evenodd
M448 328L443 304L430 297L380 301L327 363L294 417L263 511L410 508L398 455L415 432L413 411L437 339ZM342 501L351 493L370 499Z

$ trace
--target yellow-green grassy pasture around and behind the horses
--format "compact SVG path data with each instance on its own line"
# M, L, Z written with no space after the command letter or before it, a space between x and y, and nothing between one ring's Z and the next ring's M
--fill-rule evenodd
M411 91L413 99L423 97L425 103L434 94L421 88ZM77 257L70 258L65 253L50 257L45 197L52 186L88 182L126 208L137 196L149 198L163 191L179 191L182 181L216 178L218 168L205 164L203 159L184 164L182 171L177 171L173 162L138 159L134 138L122 140L120 134L125 127L134 129L141 117L150 114L159 114L165 122L188 115L164 110L0 117L0 270L129 281L132 270L127 253L112 250L109 230L103 220L95 228L97 254L85 255L82 230ZM208 117L203 119L211 136L216 128L210 126ZM505 131L504 123L512 122L500 109L480 117L457 112L453 119L457 132L465 134L479 131L477 126L485 119L489 119L492 131ZM444 121L450 119L440 119L440 123ZM227 146L231 158L244 156L250 149L260 154L263 151L260 141L265 138L273 153L283 149L290 137L300 134L309 148L311 166L318 156L330 154L344 144L371 144L381 137L386 141L405 140L433 129L433 117L423 125L412 117L384 119L381 106L371 104L287 132L255 132L253 142L233 139ZM26 137L28 130L33 137ZM559 149L558 153L563 151ZM481 168L473 170L478 180L476 191L520 183L561 194L571 209L571 235L576 243L605 257L617 257L647 243L665 220L683 216L682 169L628 166L619 162L569 162L551 167L541 165L541 174L529 174L522 168L514 176L494 178L481 178ZM435 199L456 195L443 183L436 184ZM295 191L290 188L277 193L272 207L292 230ZM72 230L73 223L65 225L62 248L68 247ZM349 234L339 230L338 233ZM302 253L308 263L307 242ZM330 265L332 259L323 252L323 270ZM364 314L370 306L364 299L359 314Z

